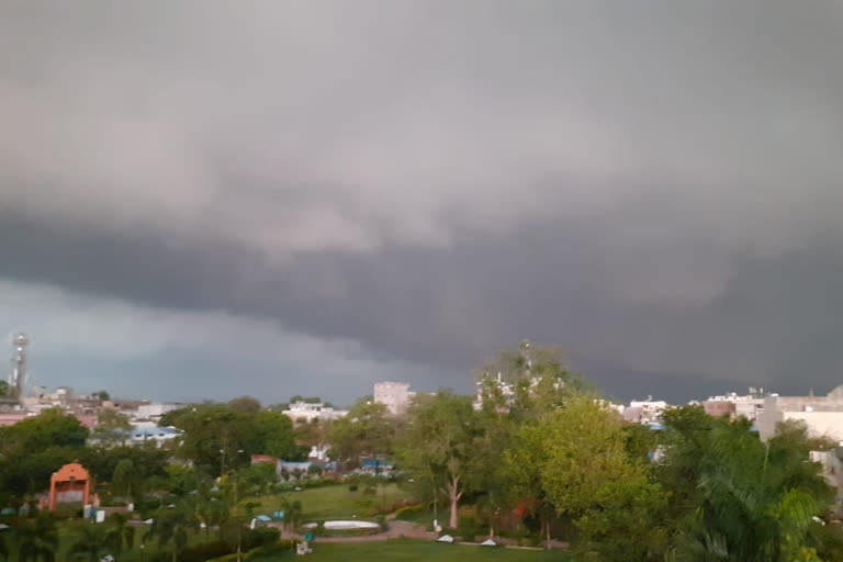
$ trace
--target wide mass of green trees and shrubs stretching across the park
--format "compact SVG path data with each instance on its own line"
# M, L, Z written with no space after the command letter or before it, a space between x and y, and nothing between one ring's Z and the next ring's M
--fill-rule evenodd
M608 562L843 560L834 493L809 461L810 451L836 443L803 425L782 424L763 442L745 419L713 418L698 406L668 411L659 430L629 425L566 370L557 348L522 345L479 375L479 403L440 391L416 396L395 416L367 397L326 424L294 426L249 396L191 405L160 420L183 430L165 447L124 445L127 420L114 412L89 435L75 417L46 411L0 428L0 504L32 504L57 468L78 461L101 498L132 502L153 524L139 528L115 515L105 526L79 522L59 533L54 517L33 513L0 536L0 558L50 562L60 535L68 560L99 560L136 542L172 561L274 542L277 530L248 529L269 494L293 531L305 512L286 494L342 476L321 480L323 468L314 465L282 471L279 482L276 465L252 465L250 456L296 460L306 446L328 443L347 473L364 458L394 463L390 477L417 503L389 510L425 522L431 515L467 540L561 539L577 560ZM348 475L344 490L373 497L384 475L372 472Z

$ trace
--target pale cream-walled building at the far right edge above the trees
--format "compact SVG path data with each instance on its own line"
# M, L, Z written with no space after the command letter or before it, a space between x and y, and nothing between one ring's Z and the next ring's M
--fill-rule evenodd
M764 411L758 415L758 435L767 440L776 434L779 422L805 422L814 437L830 437L843 442L843 385L827 396L779 396L764 398Z

